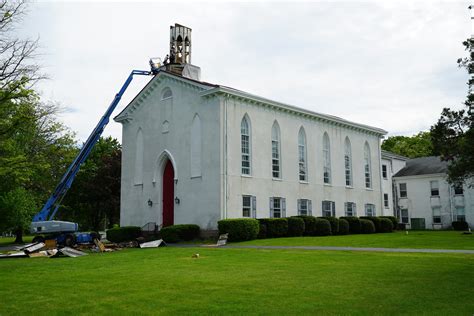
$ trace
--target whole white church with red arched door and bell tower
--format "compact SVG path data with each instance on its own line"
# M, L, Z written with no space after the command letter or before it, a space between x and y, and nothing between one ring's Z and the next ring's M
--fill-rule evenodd
M172 63L115 117L121 225L393 215L381 175L386 131L203 82L191 29L170 32Z

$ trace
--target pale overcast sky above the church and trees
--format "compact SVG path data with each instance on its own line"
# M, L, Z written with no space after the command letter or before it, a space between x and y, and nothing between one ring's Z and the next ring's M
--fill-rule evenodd
M381 127L427 130L461 108L456 60L469 1L33 2L21 33L40 38L45 100L85 140L132 69L166 55L169 26L193 29L202 79ZM136 78L115 113L149 78ZM110 122L104 135L121 138Z

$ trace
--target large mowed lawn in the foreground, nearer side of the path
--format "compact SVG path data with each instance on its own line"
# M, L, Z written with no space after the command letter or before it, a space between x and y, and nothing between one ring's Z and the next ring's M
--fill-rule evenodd
M0 315L472 315L473 266L468 254L172 247L7 259Z

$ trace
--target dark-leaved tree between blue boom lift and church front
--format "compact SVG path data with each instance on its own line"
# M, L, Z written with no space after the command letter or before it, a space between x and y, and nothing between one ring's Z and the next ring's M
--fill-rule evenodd
M116 139L99 139L65 198L62 219L78 222L83 230L119 222L121 154Z

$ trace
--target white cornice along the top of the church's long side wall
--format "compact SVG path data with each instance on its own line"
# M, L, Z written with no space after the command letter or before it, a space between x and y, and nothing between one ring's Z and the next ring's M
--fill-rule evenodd
M332 115L327 115L327 114L322 114L322 113L309 111L309 110L306 110L306 109L298 108L298 107L293 106L293 105L273 101L273 100L266 99L266 98L263 98L263 97L260 97L260 96L254 95L254 94L250 94L250 93L240 91L240 90L231 89L231 88L228 88L228 87L218 86L218 87L208 89L208 90L205 90L205 91L201 92L202 97L211 97L211 96L214 96L214 95L225 95L225 96L237 99L237 100L239 100L239 99L240 100L245 100L245 101L247 101L251 104L253 103L253 104L258 104L258 105L261 105L261 106L275 108L275 109L278 109L278 110L283 111L283 112L296 114L296 115L299 115L299 116L315 119L315 120L318 120L318 121L332 123L332 124L340 125L340 126L344 126L344 127L349 127L351 129L361 130L361 131L364 131L364 132L368 131L368 132L373 133L373 134L375 134L379 137L387 134L387 131L385 131L381 128L350 122L350 121L344 120L344 119L342 119L340 117L337 117L337 116L332 116Z

